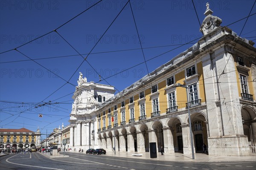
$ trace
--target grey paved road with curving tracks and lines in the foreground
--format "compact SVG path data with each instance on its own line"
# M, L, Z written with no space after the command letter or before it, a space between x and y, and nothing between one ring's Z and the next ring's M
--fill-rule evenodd
M152 159L116 158L108 155L67 153L50 158L41 153L0 157L0 170L255 170L254 162L173 162Z

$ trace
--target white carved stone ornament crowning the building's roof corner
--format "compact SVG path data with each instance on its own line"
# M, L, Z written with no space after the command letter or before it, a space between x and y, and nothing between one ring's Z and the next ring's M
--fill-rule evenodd
M212 16L212 13L213 11L209 8L209 3L206 3L206 11L204 12L206 17L200 27L200 31L203 32L204 35L212 32L222 23L222 20L219 17Z

